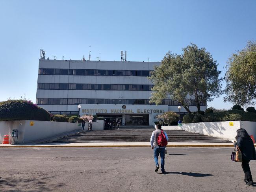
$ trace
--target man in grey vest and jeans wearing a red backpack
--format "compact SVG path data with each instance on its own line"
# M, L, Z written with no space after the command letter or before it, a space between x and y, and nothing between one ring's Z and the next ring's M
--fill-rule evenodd
M156 162L156 169L155 172L158 171L159 169L159 164L158 164L158 156L160 154L161 157L161 171L163 174L166 174L165 172L165 147L167 146L167 141L168 141L168 136L161 129L161 125L158 124L156 125L156 130L153 131L150 142L151 142L151 148L154 150L154 160Z

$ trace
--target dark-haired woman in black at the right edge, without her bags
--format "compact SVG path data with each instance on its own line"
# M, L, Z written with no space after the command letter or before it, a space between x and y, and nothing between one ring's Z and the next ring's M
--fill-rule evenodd
M252 139L245 129L238 129L236 133L237 142L234 142L234 146L238 146L242 153L242 168L245 173L245 179L243 181L245 181L247 185L253 186L249 162L250 160L256 160L255 147Z

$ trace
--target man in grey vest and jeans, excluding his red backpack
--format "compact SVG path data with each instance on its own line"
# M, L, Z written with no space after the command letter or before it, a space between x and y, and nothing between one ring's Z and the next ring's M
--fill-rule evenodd
M161 134L161 131L162 131L161 125L160 124L156 125L156 130L153 131L153 133L151 135L150 143L151 143L152 150L154 150L154 160L155 160L155 163L156 163L155 172L157 172L158 169L159 169L158 156L160 154L160 157L161 157L161 171L162 171L163 174L166 174L165 168L164 168L164 166L165 166L165 146L159 146L158 145L158 136ZM163 133L165 134L165 138L168 141L167 134L165 133L165 131L163 131Z

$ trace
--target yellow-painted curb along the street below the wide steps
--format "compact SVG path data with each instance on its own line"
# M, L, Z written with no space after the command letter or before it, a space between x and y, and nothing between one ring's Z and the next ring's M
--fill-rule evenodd
M50 148L50 147L151 147L150 145L78 145L78 146L53 146L53 145L26 145L26 146L0 146L0 148ZM234 145L167 145L167 147L234 147Z

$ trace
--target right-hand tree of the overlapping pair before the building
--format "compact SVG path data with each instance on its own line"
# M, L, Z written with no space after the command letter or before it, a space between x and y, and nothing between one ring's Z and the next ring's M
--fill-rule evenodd
M186 89L194 97L197 110L200 111L203 102L212 101L213 97L222 94L222 78L219 78L221 71L217 70L217 62L205 48L198 48L196 44L191 43L182 50L186 66L184 71Z

